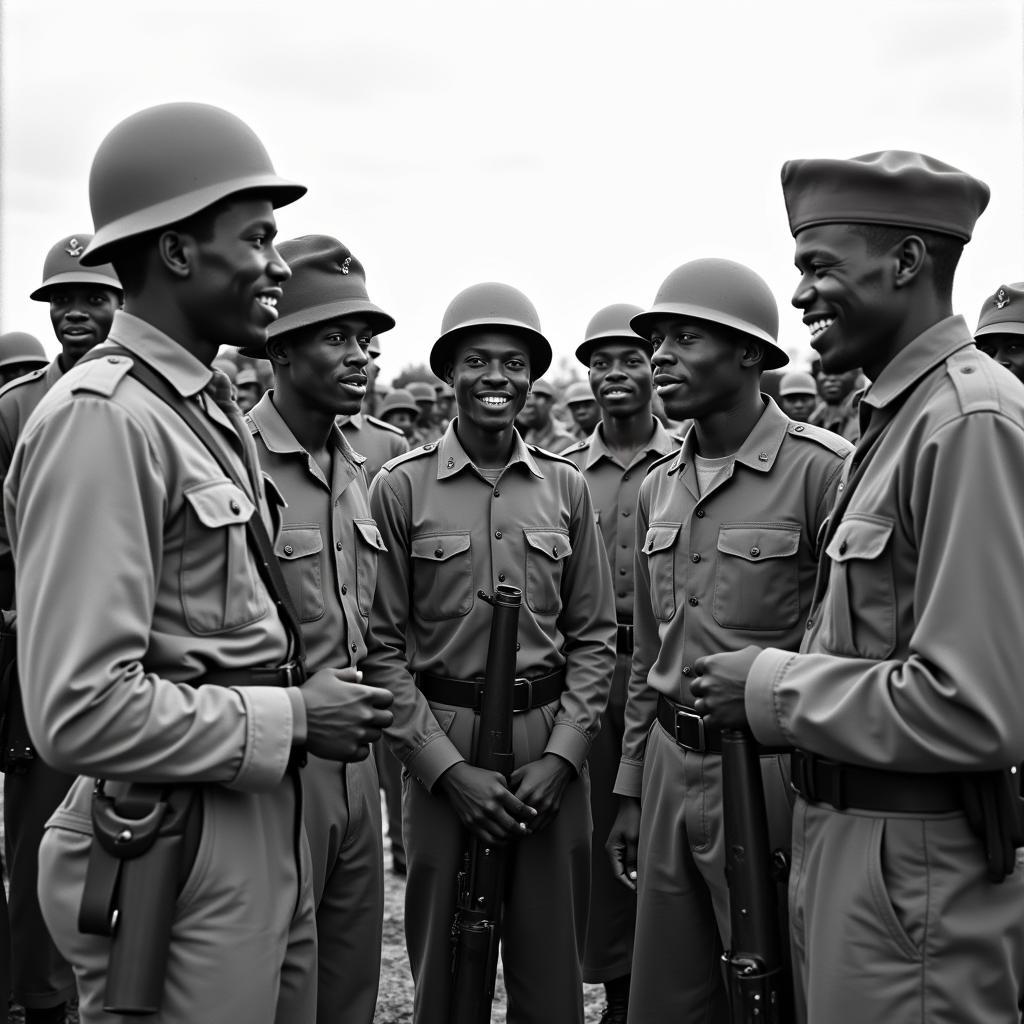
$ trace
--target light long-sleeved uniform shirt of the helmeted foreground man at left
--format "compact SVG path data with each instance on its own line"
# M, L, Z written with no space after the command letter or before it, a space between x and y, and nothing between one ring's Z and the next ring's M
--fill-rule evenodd
M110 340L195 402L245 480L252 438L204 393L210 369L123 311ZM246 543L247 517L267 514L263 488L227 479L130 366L112 354L69 371L29 420L7 476L30 733L53 767L83 775L272 788L293 722L304 734L298 691L187 685L288 656ZM81 782L74 813L87 820Z

